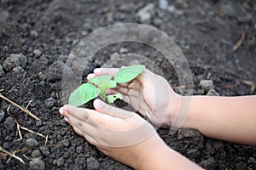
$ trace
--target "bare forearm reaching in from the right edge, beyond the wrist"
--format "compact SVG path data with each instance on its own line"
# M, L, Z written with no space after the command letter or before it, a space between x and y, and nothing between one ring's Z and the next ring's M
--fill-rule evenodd
M214 139L256 145L256 96L193 96L183 127Z

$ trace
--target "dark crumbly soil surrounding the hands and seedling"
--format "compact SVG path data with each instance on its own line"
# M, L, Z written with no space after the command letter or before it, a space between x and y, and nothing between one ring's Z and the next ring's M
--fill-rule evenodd
M195 95L207 94L199 86L202 79L212 80L215 90L223 96L256 94L253 87L256 82L256 3L253 0L176 0L169 2L174 7L172 11L161 9L158 1L1 0L1 93L23 106L32 99L28 109L41 122L24 113L15 117L20 125L49 135L49 142L44 146L44 139L24 130L21 130L23 139L15 142L19 139L15 120L7 114L9 103L0 99L0 145L9 151L32 146L15 154L26 164L15 159L7 163L8 157L1 154L0 169L130 169L104 156L63 121L58 113L63 105L61 76L67 55L80 39L103 26L142 22L137 12L148 3L154 3L154 8L143 24L166 32L182 48L193 74ZM232 48L242 33L245 40L234 52ZM172 86L179 85L175 71L159 53L132 42L102 48L84 75L103 65L115 52L120 54L121 48L147 56L163 69ZM26 62L20 57L10 66L4 66L10 54L23 54ZM179 89L177 93L185 92ZM10 111L19 113L14 107ZM207 169L256 169L255 147L208 139L190 129L181 129L173 135L168 129L158 132L166 144ZM39 159L31 161L25 156Z

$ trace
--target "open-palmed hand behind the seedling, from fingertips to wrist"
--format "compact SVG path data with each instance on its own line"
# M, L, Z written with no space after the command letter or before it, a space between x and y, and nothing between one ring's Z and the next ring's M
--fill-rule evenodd
M101 75L115 75L117 68L96 69L87 79ZM151 122L162 127L171 127L180 97L176 94L165 78L145 69L141 75L131 82L119 84L117 88L109 90L110 94L117 92L124 95L125 102L148 116Z

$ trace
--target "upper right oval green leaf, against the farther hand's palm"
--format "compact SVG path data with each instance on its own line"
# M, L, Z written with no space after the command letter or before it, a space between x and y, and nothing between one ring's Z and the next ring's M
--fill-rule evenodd
M119 70L114 76L114 81L117 83L130 82L143 72L145 65L131 65Z

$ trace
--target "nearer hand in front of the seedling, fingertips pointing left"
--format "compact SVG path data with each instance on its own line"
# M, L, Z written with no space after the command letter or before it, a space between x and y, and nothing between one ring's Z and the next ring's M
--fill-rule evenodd
M94 101L94 107L96 111L64 105L60 113L76 133L107 156L141 168L151 153L158 153L160 148L167 150L154 127L136 113L112 107L100 99Z

